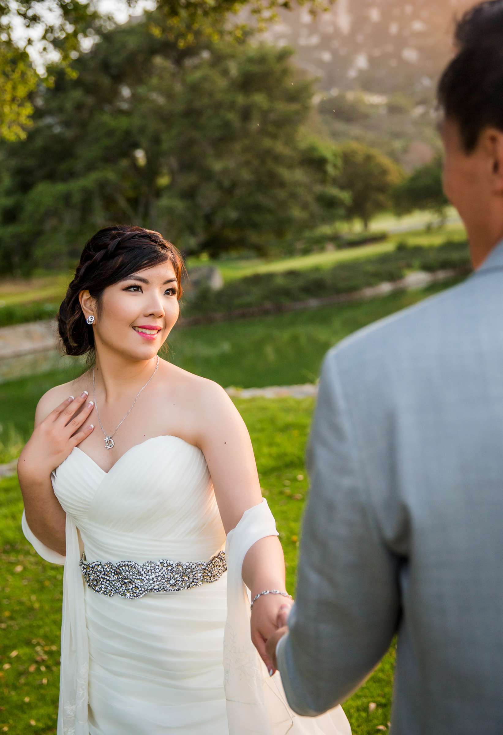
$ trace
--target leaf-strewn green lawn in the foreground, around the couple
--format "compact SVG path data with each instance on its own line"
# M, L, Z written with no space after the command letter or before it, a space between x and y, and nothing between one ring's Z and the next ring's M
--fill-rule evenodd
M275 516L294 595L300 521L308 493L305 442L314 400L236 399L250 431L262 493ZM17 477L0 481L0 732L54 734L59 692L62 567L44 562L23 537ZM355 735L390 717L394 645L372 677L344 703ZM369 703L377 707L369 711Z

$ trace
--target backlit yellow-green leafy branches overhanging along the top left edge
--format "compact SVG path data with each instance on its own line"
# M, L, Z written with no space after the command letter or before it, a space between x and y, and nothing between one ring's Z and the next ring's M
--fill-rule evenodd
M157 0L157 17L148 31L175 43L179 49L196 46L201 37L212 42L219 38L241 40L250 24L239 22L236 15L245 5L255 18L258 30L278 20L278 7L292 10L306 5L311 15L326 10L335 0ZM134 12L137 0L126 0ZM146 15L149 15L146 13ZM75 78L73 62L82 49L109 31L115 21L111 13L98 12L88 2L68 0L0 0L0 140L23 140L29 126L32 105L29 97L37 86L54 85L54 73L46 74L32 63L29 51L38 38L37 49L43 54L59 55L59 64L68 78ZM21 40L20 30L23 40Z

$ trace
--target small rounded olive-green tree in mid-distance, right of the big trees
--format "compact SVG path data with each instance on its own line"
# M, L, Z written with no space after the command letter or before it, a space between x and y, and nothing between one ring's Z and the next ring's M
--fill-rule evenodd
M359 219L363 229L379 212L391 207L391 190L403 178L402 169L375 148L363 143L344 143L339 186L350 194L344 207L346 218Z

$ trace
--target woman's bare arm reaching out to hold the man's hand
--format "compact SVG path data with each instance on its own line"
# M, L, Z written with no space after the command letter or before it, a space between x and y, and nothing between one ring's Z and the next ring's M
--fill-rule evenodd
M228 534L243 513L261 503L253 446L246 424L227 392L214 381L204 380L198 391L196 440L211 474L222 524ZM264 589L286 591L285 559L278 536L258 539L245 555L242 578L252 599ZM265 642L276 630L283 595L261 595L253 604L252 639L258 653L271 668Z

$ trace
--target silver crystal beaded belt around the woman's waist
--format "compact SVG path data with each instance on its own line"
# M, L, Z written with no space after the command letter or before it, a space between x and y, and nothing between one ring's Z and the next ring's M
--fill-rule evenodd
M79 561L87 585L101 595L141 598L147 592L178 592L214 582L227 571L225 551L211 556L208 562L86 562L85 552Z

